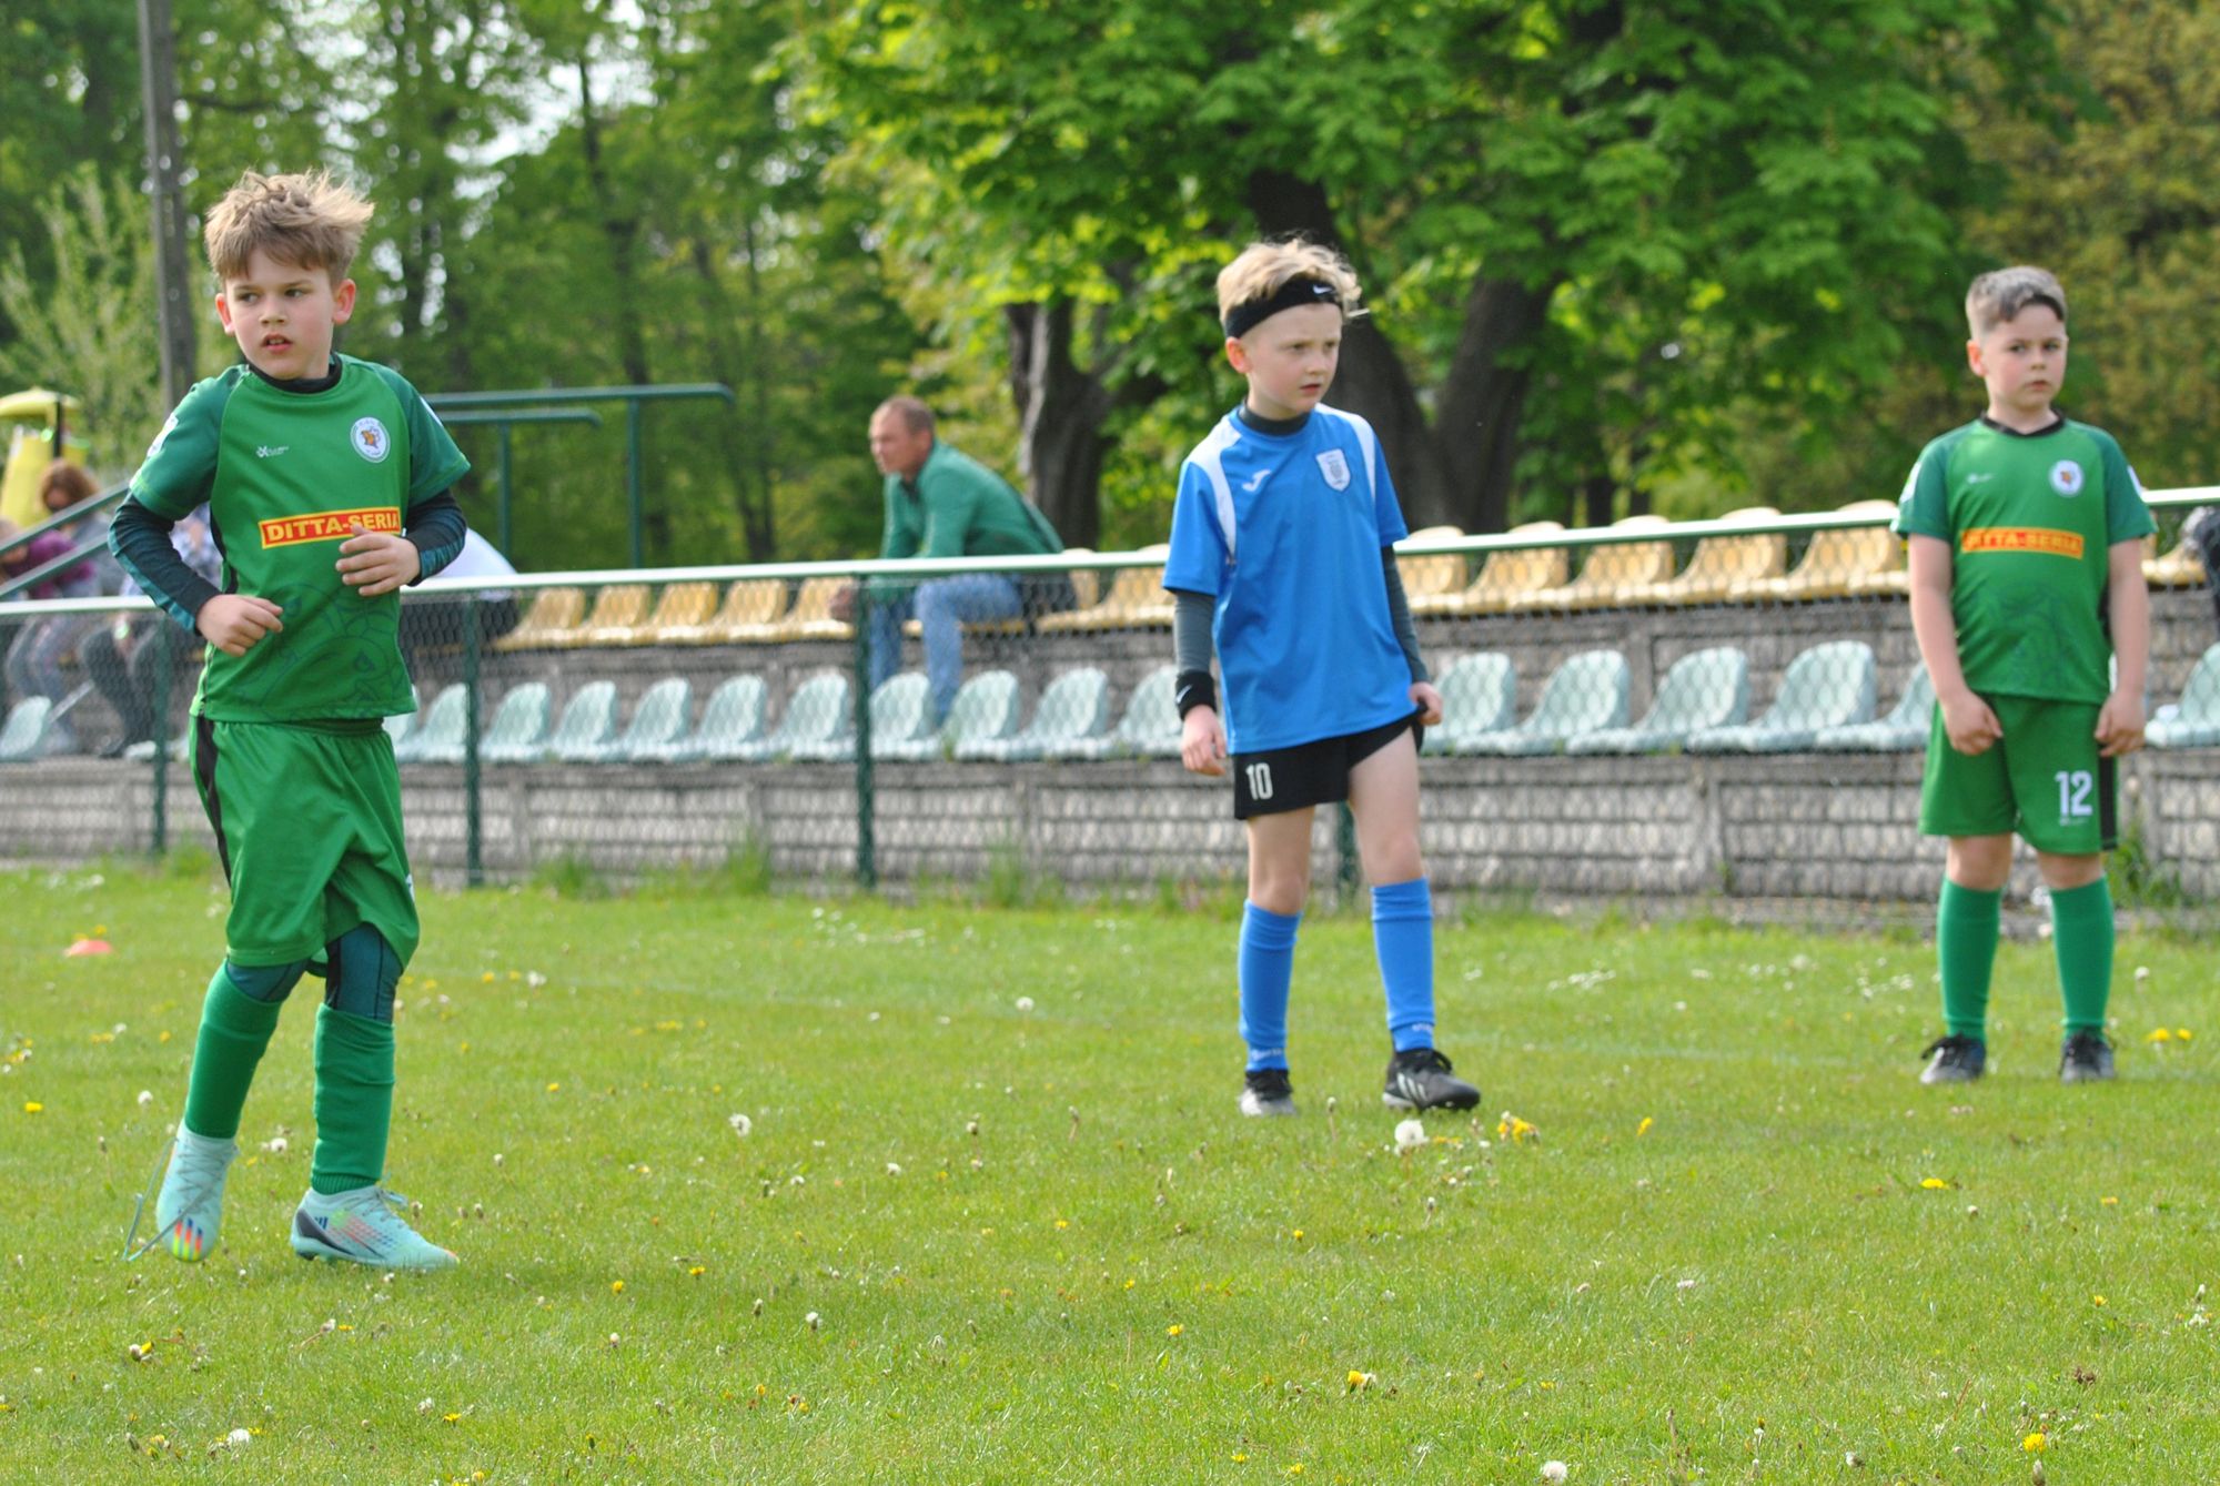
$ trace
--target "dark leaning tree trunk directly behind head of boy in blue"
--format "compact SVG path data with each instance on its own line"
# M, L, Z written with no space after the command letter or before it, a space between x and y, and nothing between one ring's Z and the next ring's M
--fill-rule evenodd
M1332 206L1316 182L1283 171L1252 171L1248 202L1265 237L1301 233L1312 242L1341 248ZM1332 406L1359 415L1379 432L1405 523L1421 528L1456 521L1454 486L1441 448L1425 426L1419 393L1410 384L1410 373L1403 370L1403 357L1396 355L1394 342L1370 315L1352 319L1343 328L1341 370L1334 375L1328 397Z

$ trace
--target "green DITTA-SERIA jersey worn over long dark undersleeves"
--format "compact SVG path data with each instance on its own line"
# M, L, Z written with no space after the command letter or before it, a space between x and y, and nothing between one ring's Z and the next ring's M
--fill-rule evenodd
M131 479L131 497L182 519L202 501L224 548L222 590L269 599L284 630L244 657L209 645L193 710L224 723L304 723L413 710L400 594L364 599L337 572L362 526L402 532L413 503L471 464L408 381L337 357L322 393L289 393L246 366L184 395Z

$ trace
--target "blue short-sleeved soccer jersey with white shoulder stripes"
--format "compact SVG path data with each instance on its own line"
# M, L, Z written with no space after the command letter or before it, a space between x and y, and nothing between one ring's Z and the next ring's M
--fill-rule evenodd
M1381 548L1407 532L1379 435L1319 406L1290 435L1225 415L1179 470L1163 586L1217 601L1225 747L1261 754L1412 714Z

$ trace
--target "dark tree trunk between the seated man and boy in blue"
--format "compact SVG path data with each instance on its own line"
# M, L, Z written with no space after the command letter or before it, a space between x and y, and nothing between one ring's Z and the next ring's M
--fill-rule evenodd
M1010 399L1017 404L1017 470L1066 546L1101 539L1101 475L1110 439L1110 388L1072 362L1072 302L1003 306Z

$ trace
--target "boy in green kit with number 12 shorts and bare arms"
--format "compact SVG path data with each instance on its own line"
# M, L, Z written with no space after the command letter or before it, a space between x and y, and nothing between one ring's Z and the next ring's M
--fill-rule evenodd
M2067 373L2067 295L2000 268L1965 297L1967 359L1989 410L1920 452L1896 515L1911 548L1911 628L1936 685L1920 829L1949 836L1936 951L1945 1036L1920 1082L1980 1078L2011 836L2051 894L2067 1082L2111 1078L2113 761L2142 747L2151 512L2111 435L2051 401ZM2107 679L2107 670L2113 674Z

